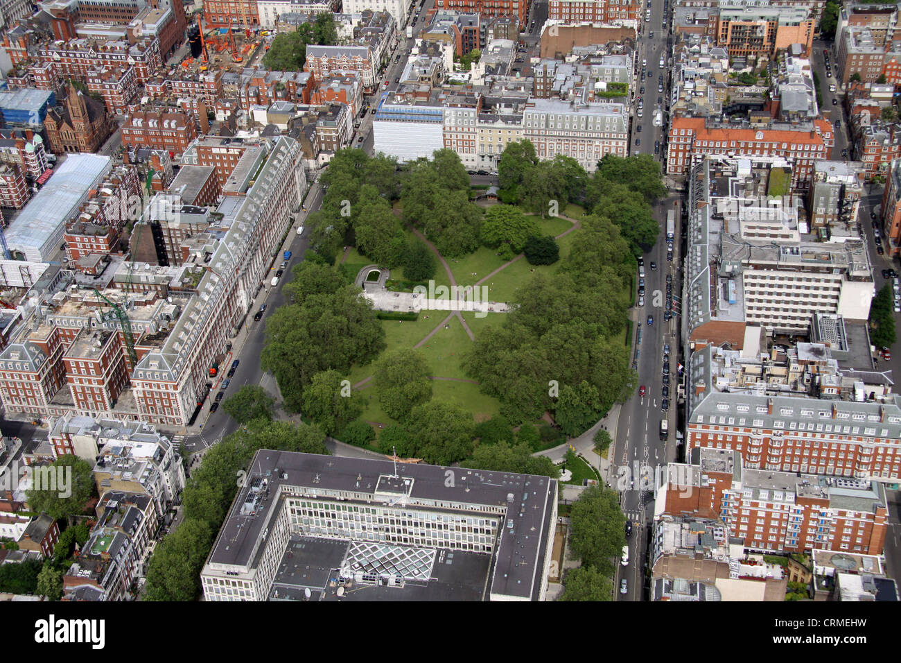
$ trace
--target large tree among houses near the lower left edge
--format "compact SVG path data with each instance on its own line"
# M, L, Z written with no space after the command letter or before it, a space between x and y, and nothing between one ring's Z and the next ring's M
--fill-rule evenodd
M97 493L91 465L79 456L67 455L59 456L49 468L40 470L51 473L42 476L54 476L56 485L43 485L37 490L35 484L35 488L26 492L32 511L42 511L54 520L72 520L86 511L87 501Z

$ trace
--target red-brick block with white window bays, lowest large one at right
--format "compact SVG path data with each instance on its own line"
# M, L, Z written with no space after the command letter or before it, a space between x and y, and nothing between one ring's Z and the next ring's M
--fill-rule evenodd
M714 448L670 463L656 504L659 515L721 520L730 536L761 553L879 555L888 520L880 483L749 469L738 452Z

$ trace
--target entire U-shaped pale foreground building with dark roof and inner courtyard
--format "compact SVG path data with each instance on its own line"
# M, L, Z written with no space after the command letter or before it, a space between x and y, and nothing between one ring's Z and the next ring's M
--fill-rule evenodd
M544 600L552 479L464 470L449 488L433 465L268 450L250 468L201 574L207 601ZM287 557L338 569L338 587L280 573Z

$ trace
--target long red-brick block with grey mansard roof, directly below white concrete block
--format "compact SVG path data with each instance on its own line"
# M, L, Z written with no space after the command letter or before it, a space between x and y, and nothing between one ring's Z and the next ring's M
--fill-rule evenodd
M848 364L824 344L696 351L687 369L686 449L732 449L760 470L896 483L898 397L887 373Z

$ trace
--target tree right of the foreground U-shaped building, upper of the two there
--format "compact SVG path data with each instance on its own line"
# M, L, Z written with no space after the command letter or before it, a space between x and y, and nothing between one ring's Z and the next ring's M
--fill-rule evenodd
M582 560L582 566L595 566L601 574L612 575L613 559L620 557L625 545L625 517L619 496L606 487L589 486L573 503L569 522L569 548Z

